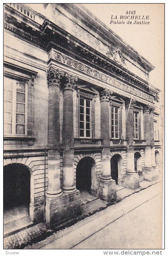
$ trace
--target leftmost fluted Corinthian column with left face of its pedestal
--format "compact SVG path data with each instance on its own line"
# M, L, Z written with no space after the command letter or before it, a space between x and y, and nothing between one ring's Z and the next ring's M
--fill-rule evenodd
M53 218L53 204L56 198L63 194L60 188L60 80L61 73L58 69L47 72L49 87L48 108L48 190L46 192L46 223L51 224Z

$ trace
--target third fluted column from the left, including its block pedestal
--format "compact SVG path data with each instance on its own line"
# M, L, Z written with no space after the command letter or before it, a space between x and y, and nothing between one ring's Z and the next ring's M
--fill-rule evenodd
M111 166L110 166L110 130L109 130L109 106L110 97L112 92L108 89L103 89L100 93L101 102L101 138L103 139L102 149L102 174L100 178L99 196L105 201L110 201L116 198L116 183L111 178Z

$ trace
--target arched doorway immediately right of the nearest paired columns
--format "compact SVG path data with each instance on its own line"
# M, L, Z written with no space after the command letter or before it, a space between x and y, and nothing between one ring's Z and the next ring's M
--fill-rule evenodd
M91 186L97 185L96 165L92 157L83 157L76 166L76 188L91 193Z

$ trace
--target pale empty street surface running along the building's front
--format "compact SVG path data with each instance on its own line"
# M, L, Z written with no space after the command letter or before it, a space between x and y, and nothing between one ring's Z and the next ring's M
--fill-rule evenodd
M40 249L161 249L162 182L126 197Z

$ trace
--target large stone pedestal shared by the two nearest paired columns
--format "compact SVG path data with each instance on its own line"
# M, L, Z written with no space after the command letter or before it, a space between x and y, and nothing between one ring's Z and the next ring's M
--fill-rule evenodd
M61 227L81 215L80 191L50 198L46 197L45 217L49 227Z

